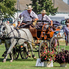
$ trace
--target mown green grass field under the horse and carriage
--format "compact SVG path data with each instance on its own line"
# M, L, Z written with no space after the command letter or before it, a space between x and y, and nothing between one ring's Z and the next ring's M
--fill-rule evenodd
M60 48L63 49L65 46L65 42L60 41ZM65 49L69 50L69 46L65 46ZM36 60L33 58L28 59L21 59L19 57L17 60L14 60L12 63L9 62L10 58L8 56L8 59L5 63L2 62L3 57L2 54L5 51L4 44L0 45L0 69L69 69L69 64L67 64L67 67L60 67L60 64L54 62L54 66L51 68L47 67L35 67ZM38 53L35 52L36 57L38 58Z

